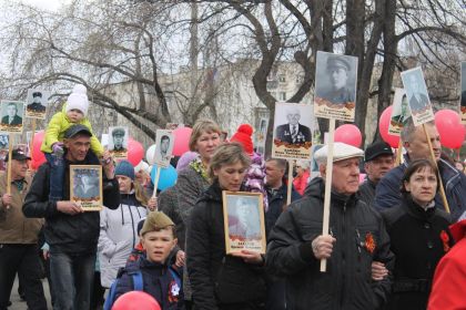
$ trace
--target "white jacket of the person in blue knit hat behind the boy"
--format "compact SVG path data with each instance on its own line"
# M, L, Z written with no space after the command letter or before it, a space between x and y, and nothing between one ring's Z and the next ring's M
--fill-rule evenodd
M138 223L148 215L134 192L120 197L121 204L116 209L100 211L98 251L100 281L105 288L110 288L118 270L124 267L132 249L139 244Z

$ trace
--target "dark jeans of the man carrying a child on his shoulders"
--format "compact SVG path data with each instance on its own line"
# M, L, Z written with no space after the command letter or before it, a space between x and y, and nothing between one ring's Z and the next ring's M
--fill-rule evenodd
M55 310L89 310L94 280L95 254L50 251L50 276Z

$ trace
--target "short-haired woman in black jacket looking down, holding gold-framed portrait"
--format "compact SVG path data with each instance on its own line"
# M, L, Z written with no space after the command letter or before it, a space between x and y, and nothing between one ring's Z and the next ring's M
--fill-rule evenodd
M213 184L197 200L186 237L188 271L194 309L265 309L261 255L226 255L222 190L242 187L251 159L235 143L219 146L209 174Z

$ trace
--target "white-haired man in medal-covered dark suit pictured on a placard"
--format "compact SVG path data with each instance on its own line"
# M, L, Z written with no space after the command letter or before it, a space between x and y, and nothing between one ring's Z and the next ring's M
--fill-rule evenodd
M276 127L275 137L288 144L302 144L311 142L311 130L300 124L301 112L297 107L291 107L286 111L287 124Z

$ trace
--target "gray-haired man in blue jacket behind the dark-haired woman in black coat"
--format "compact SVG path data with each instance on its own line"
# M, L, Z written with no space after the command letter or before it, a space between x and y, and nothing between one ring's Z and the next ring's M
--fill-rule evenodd
M435 161L438 165L440 179L445 188L452 219L454 221L466 210L466 176L448 162L440 158L440 136L433 122L425 124L430 138ZM430 151L423 126L414 126L409 120L402 131L403 146L407 151L405 163L388 172L378 183L375 192L375 207L391 208L398 206L402 200L399 192L403 174L411 161L429 159ZM444 208L440 194L435 196L435 205Z

